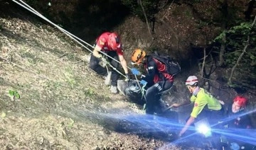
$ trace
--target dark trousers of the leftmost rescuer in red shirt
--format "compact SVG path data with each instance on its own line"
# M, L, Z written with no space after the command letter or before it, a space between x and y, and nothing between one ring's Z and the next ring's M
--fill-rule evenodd
M114 52L114 51L107 52L107 55L109 55L113 59L116 59L117 61L119 61L119 57L117 56L117 52ZM105 56L105 57L107 57L107 56ZM114 61L110 57L107 57L107 60L110 62L112 67L117 69L119 67L119 63ZM90 69L94 70L97 74L100 74L102 76L107 76L107 69L105 67L102 67L99 64L99 62L100 62L100 59L93 56L93 54L92 54L91 57L90 57ZM112 69L112 74L111 74L111 85L112 86L117 86L117 79L118 78L119 78L119 74L117 73L117 71Z

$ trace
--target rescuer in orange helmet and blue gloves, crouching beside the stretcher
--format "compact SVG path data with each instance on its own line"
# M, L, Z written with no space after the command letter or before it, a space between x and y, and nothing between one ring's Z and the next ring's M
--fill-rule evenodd
M147 55L144 50L136 49L132 53L132 62L134 64L142 64L146 69L146 76L142 75L142 85L146 86L146 113L163 113L166 104L161 100L164 91L169 90L174 84L174 76L166 73L165 64L159 60ZM140 75L140 72L132 68L132 74Z

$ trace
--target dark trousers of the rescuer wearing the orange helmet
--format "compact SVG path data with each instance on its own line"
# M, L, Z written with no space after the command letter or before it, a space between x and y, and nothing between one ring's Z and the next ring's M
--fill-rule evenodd
M173 86L174 82L171 81L159 81L146 90L146 113L162 113L162 110L166 108L161 95L164 91L169 90Z

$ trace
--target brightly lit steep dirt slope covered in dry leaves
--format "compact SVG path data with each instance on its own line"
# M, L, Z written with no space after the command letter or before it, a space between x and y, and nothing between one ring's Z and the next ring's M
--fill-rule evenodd
M114 124L105 127L112 116L143 112L121 95L109 93L102 78L88 68L89 52L69 37L18 18L0 18L0 26L1 148L164 146L160 140L114 132Z

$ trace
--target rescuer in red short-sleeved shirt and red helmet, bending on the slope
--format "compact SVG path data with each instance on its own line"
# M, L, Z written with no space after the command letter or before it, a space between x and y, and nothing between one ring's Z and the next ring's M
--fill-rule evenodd
M90 68L96 71L97 74L105 76L105 84L109 84L111 80L110 91L112 93L117 93L117 79L119 78L118 72L112 69L112 72L108 74L107 69L102 67L99 62L102 60L106 61L106 59L108 59L110 64L116 69L119 67L120 62L122 68L124 69L124 73L128 78L127 62L124 59L120 37L117 35L117 33L106 32L97 37L96 42L97 43L95 49L93 50L92 56L90 58ZM105 52L105 54L112 57L113 59L106 57L105 54L102 54L100 51ZM114 59L117 61L119 60L119 62L115 61Z

